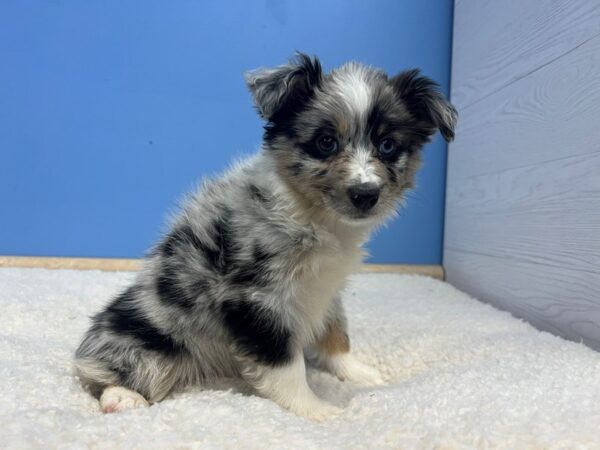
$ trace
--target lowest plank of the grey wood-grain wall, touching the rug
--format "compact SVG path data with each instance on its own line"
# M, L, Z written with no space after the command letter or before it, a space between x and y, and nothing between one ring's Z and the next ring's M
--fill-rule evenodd
M447 280L541 330L600 350L600 274L446 248Z

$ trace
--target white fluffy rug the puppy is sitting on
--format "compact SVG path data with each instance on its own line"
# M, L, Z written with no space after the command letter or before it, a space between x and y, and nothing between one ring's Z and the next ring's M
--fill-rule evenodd
M89 315L131 277L0 269L0 448L600 448L600 354L406 275L348 287L353 349L387 384L309 370L344 408L329 422L227 385L103 415L71 355Z

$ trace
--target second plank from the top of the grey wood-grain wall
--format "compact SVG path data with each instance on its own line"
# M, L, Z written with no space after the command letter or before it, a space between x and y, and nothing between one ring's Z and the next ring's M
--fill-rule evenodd
M596 151L600 36L461 111L448 152L448 184Z

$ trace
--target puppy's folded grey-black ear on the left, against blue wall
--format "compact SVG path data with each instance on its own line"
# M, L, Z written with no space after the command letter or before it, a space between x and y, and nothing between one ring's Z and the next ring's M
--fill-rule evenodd
M306 103L321 84L323 72L316 57L296 53L289 64L256 69L247 72L245 78L258 112L265 120L272 121Z

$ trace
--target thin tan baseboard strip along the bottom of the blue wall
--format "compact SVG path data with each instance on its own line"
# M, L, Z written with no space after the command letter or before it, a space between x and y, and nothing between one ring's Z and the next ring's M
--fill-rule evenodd
M44 269L77 270L137 270L139 259L123 258L63 258L49 256L0 256L0 267L38 267ZM444 279L444 269L426 264L364 264L362 272L406 273Z

